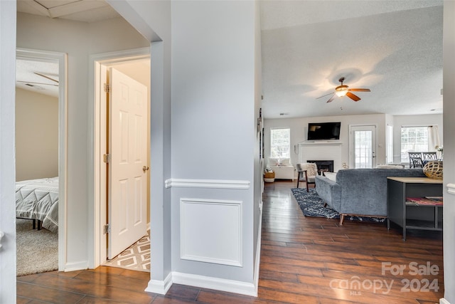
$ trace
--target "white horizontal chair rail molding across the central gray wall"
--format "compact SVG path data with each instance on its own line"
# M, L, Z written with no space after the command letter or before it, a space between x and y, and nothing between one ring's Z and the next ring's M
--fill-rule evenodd
M250 181L228 179L166 179L165 187L250 189Z

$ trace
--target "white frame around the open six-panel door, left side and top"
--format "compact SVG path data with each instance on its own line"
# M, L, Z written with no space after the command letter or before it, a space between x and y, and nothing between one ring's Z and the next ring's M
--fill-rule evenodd
M105 83L105 75L102 75L102 68L108 65L115 65L126 61L134 61L144 58L150 58L150 48L135 48L127 51L117 51L109 53L100 53L90 56L89 64L89 98L94 100L93 107L89 108L89 132L91 135L89 143L89 159L92 167L89 167L90 179L88 182L89 195L92 194L93 208L89 209L89 231L93 234L88 236L89 268L96 268L104 263L107 256L107 235L103 234L103 226L107 216L105 201L105 187L107 183L106 164L102 161L102 142L106 142L105 133L101 132L105 125L106 117L106 98L103 94L103 83ZM104 135L104 136L103 136Z

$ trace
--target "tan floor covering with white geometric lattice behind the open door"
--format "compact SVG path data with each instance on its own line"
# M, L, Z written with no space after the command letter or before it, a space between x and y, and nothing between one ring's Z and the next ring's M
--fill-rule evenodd
M144 236L118 256L107 261L104 266L150 272L150 232L148 236Z

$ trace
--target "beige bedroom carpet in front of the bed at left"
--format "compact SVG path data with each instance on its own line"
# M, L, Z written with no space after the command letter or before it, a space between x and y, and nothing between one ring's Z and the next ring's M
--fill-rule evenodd
M58 234L32 230L32 221L16 219L17 276L58 269Z

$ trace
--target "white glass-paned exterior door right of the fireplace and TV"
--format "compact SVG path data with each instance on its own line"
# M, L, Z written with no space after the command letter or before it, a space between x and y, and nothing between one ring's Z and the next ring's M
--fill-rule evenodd
M350 127L350 168L376 167L376 126Z

